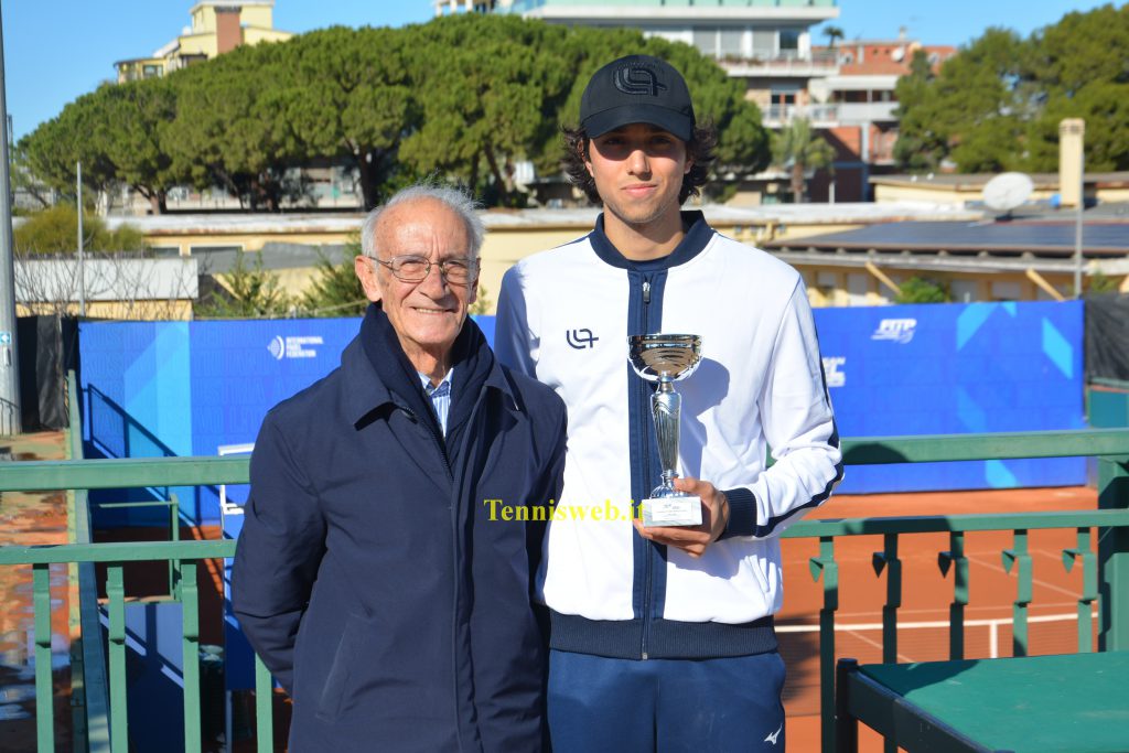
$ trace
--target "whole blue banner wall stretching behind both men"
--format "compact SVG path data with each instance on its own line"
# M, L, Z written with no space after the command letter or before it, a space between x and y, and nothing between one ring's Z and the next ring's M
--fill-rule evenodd
M492 340L493 317L476 318ZM336 367L359 322L82 324L88 455L216 455L245 448L272 405ZM822 308L815 322L843 437L1084 426L1079 301ZM1085 463L1076 458L989 461L851 467L840 491L1084 481ZM189 520L218 522L219 490L175 491ZM245 496L243 490L225 493L235 502ZM163 515L156 509L104 513L99 523L105 525Z

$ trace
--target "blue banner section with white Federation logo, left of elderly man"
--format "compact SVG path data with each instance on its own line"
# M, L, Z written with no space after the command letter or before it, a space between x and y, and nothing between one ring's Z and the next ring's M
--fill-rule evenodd
M266 411L336 368L359 318L114 322L79 325L87 457L228 454L250 448ZM218 524L219 489L91 494L95 524L159 525L157 508L98 502L166 499L182 518ZM246 491L227 489L235 502Z

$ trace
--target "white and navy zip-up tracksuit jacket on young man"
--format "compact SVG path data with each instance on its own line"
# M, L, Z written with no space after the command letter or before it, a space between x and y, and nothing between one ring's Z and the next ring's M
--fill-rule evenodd
M778 535L842 479L799 274L717 234L700 212L683 219L690 230L665 259L624 259L601 216L593 233L523 260L502 282L499 359L553 387L569 411L564 488L537 577L557 649L618 658L772 650ZM627 342L657 332L702 338L702 362L675 385L679 472L724 490L730 518L697 560L641 539L629 520L660 467L654 388L631 370Z

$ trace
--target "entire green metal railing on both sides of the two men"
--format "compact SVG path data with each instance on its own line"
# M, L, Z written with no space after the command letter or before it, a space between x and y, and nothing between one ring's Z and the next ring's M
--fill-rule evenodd
M1007 435L961 435L943 437L887 437L843 441L848 465L921 463L969 459L1094 456L1099 458L1099 509L1003 515L917 516L854 518L842 520L802 520L785 532L788 539L819 541L819 555L811 560L813 577L822 580L823 605L820 611L820 676L823 750L833 750L834 724L834 620L839 601L839 571L835 540L844 536L881 535L882 551L874 555L875 571L886 577L886 599L882 611L883 658L898 655L898 611L902 597L902 569L899 558L901 536L947 533L948 549L938 554L942 571L953 575L953 602L949 607L949 656L964 656L964 607L969 598L969 563L964 555L970 533L1004 531L1013 533L1013 544L1001 552L1005 568L1015 568L1016 598L1013 604L1013 653L1027 650L1027 607L1032 594L1029 532L1045 528L1075 529L1076 545L1062 553L1069 569L1080 561L1083 587L1078 596L1078 648L1089 650L1092 612L1099 603L1099 648L1129 649L1129 429L1088 431L1029 432ZM246 457L176 457L65 462L11 463L0 466L0 490L88 489L182 487L219 483L246 483L250 462ZM1092 532L1099 531L1097 551L1091 548ZM8 546L0 549L0 564L30 563L34 568L36 621L36 699L40 751L53 751L51 718L50 581L51 563L78 562L93 567L106 563L106 608L110 613L108 750L128 750L125 702L125 632L122 564L135 561L169 561L176 570L178 598L183 604L185 750L200 750L200 673L198 657L199 595L196 563L203 559L231 557L233 541L182 541L145 543L76 543L61 546ZM97 631L97 623L82 623L82 634ZM94 632L93 634L98 634ZM90 641L85 641L89 645ZM99 647L100 648L100 647ZM85 666L88 706L91 686L90 663ZM257 750L271 751L271 678L256 660ZM93 708L88 709L88 719ZM96 724L89 723L90 748L96 750Z

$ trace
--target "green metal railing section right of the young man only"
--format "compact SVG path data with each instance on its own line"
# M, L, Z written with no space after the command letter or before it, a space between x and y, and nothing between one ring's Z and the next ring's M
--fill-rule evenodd
M883 662L896 662L898 610L901 606L902 534L948 533L949 546L938 553L942 573L953 570L953 602L949 605L949 658L964 658L964 607L969 602L969 562L964 557L965 534L1010 531L1014 546L1004 550L1006 571L1016 568L1016 598L1013 602L1013 654L1025 656L1029 645L1027 606L1032 594L1027 532L1040 528L1075 528L1077 544L1062 553L1069 571L1082 560L1083 593L1078 598L1078 646L1089 650L1093 603L1100 597L1099 648L1129 649L1129 429L1086 431L1033 431L992 435L886 437L843 441L848 465L925 463L971 459L1042 457L1096 457L1099 462L1099 509L998 515L917 516L846 520L800 520L782 534L785 539L812 537L820 553L812 558L812 577L823 581L820 610L820 713L823 750L834 750L834 614L839 606L839 569L834 540L840 536L882 535L883 550L875 552L875 573L886 572L886 599L882 610ZM1099 552L1089 549L1091 532L1099 536ZM1118 592L1115 584L1120 584ZM1083 648L1085 647L1085 648Z

